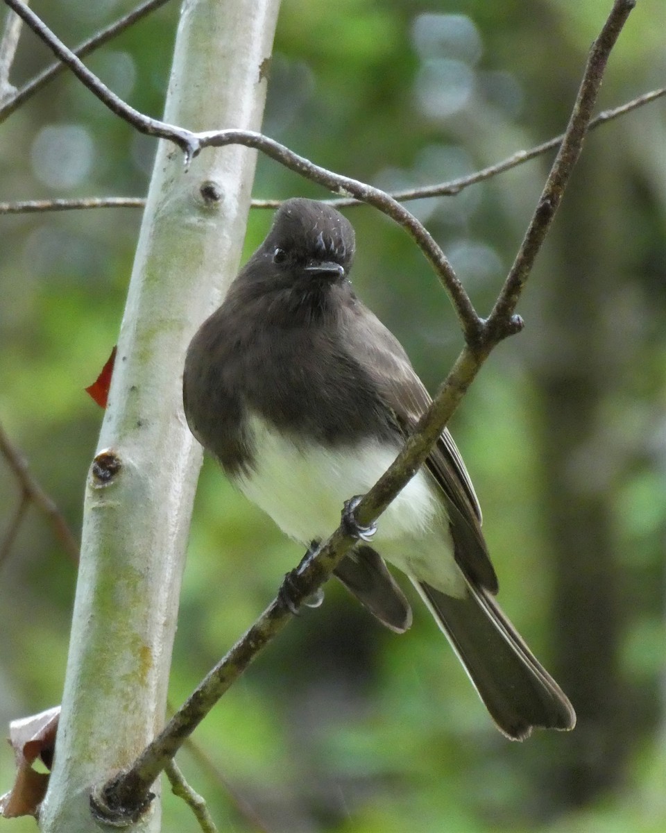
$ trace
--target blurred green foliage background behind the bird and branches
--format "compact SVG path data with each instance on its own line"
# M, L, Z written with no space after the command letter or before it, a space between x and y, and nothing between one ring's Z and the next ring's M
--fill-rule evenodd
M32 6L73 45L133 3ZM463 176L564 129L610 6L283 0L265 132L380 187ZM177 17L173 0L87 59L157 117ZM659 0L629 17L599 109L664 83L663 23ZM47 62L24 32L12 83ZM209 762L179 756L221 830L666 828L664 127L662 99L588 137L519 307L524 332L492 355L452 425L484 509L500 602L569 694L576 730L509 743L421 606L395 636L331 582L324 606L305 611L196 731ZM62 76L0 126L0 200L143 196L154 152L152 139ZM551 159L411 204L482 314ZM327 196L261 158L254 194ZM366 207L345 213L357 232L355 288L434 391L461 347L450 304L400 229ZM0 217L0 424L77 534L102 420L83 388L116 341L140 220L140 209L117 208ZM270 222L271 212L251 212L246 255ZM0 459L2 534L20 499ZM300 557L206 461L172 703ZM76 572L34 508L0 569L6 734L10 719L60 701ZM0 793L12 776L0 745ZM196 830L165 793L164 830ZM30 819L0 825L35 830Z

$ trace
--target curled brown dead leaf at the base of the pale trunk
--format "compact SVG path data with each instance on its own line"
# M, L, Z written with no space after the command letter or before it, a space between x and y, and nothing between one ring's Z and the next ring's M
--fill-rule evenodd
M48 775L33 770L32 762L38 756L51 768L59 716L60 706L56 706L9 724L9 742L16 758L16 779L12 790L0 798L0 815L4 818L37 816L46 795Z

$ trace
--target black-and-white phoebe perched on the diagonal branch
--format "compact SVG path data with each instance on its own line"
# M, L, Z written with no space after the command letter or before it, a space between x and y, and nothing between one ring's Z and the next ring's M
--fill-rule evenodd
M331 534L430 403L400 343L351 289L354 249L333 208L285 202L185 362L191 431L303 546ZM479 502L449 431L380 517L372 546L360 540L335 570L402 632L410 606L382 556L410 577L506 736L574 727L566 696L493 599Z

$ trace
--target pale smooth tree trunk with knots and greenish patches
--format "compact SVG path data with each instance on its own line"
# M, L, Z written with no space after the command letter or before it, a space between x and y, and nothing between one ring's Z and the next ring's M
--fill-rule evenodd
M259 130L279 0L186 0L165 120ZM40 828L99 831L91 787L162 726L201 451L181 410L187 343L241 256L256 154L157 152L88 476L81 566L55 765ZM105 480L105 478L107 478ZM158 831L159 801L132 831Z

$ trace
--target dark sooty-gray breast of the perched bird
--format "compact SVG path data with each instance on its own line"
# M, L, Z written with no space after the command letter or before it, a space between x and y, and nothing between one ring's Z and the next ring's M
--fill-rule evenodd
M231 476L252 467L249 414L297 443L345 446L397 433L375 383L346 349L335 317L289 326L233 298L191 342L183 400L191 431Z

